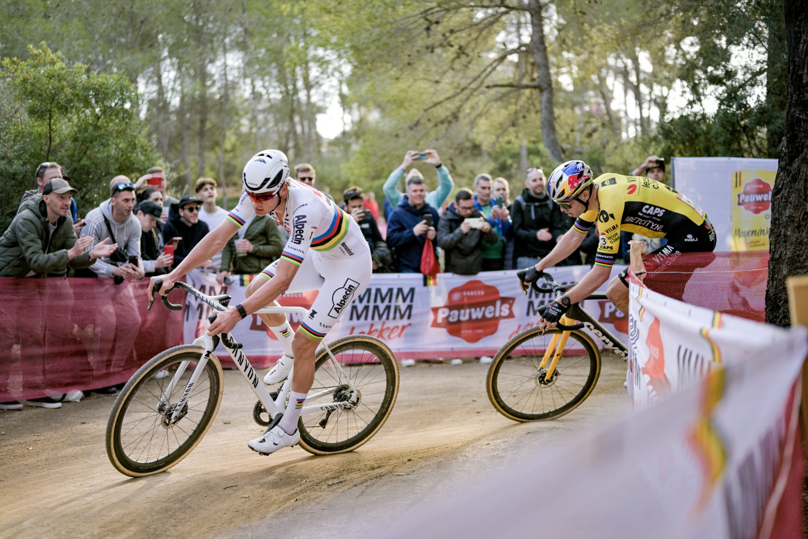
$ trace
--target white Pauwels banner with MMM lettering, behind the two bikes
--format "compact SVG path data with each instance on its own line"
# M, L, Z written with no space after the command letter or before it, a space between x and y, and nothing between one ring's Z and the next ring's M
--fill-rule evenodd
M617 275L623 267L615 266ZM589 266L553 267L556 281L577 282ZM263 279L263 277L258 277ZM226 293L230 305L244 300L251 276L236 276L230 285L217 284L212 273L195 270L189 283L207 294ZM605 285L604 288L605 289ZM286 294L281 305L308 308L317 292ZM516 272L482 272L475 276L438 274L435 286L424 286L423 276L408 273L379 273L372 276L368 288L353 299L349 310L326 336L326 342L356 333L382 339L398 359L493 356L508 339L535 325L537 309L552 298L550 294L525 294L519 288ZM212 309L191 295L187 296L185 342L191 343L208 326ZM628 337L628 318L610 301L587 301L584 308L624 342ZM290 315L297 330L300 316ZM253 314L236 326L234 336L255 366L266 366L280 357L282 349L261 319ZM600 342L595 339L596 342ZM223 347L221 360L229 356Z

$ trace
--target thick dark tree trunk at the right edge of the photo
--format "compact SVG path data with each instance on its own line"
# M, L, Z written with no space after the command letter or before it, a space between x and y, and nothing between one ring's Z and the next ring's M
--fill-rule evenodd
M785 136L772 191L766 322L789 326L785 278L808 274L808 2L785 0Z

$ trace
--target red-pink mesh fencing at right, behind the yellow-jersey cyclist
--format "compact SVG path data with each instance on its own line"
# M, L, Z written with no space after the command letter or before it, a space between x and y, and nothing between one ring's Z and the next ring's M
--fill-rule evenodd
M766 319L768 251L684 253L643 258L648 288L710 310Z

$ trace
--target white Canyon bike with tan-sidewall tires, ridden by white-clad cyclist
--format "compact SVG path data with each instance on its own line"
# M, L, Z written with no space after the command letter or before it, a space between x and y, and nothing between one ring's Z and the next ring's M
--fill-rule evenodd
M162 282L155 281L157 290ZM185 283L181 288L213 309L225 310L230 297L206 296ZM156 296L156 293L155 293ZM151 309L154 300L149 301ZM182 310L166 296L170 310ZM266 307L259 313L306 314L302 307ZM211 322L216 314L209 318ZM170 348L144 364L124 385L107 422L107 455L121 474L132 477L170 469L191 453L216 417L223 393L221 364L213 351L220 342L258 397L256 423L267 427L286 408L292 374L269 393L233 335L203 335L193 344ZM398 363L381 340L347 335L315 354L314 385L297 423L300 445L309 453L345 453L375 435L398 396ZM293 369L292 369L293 370Z

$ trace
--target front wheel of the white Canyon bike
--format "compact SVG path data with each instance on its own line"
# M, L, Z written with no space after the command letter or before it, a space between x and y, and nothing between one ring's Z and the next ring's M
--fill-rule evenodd
M192 344L170 348L149 360L124 385L112 406L106 440L107 456L121 474L141 477L168 470L208 432L223 393L221 364L213 354L188 396L182 418L176 423L170 420L171 406L182 398L203 353L202 347ZM161 410L160 398L183 361L190 363Z

